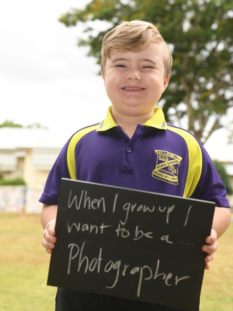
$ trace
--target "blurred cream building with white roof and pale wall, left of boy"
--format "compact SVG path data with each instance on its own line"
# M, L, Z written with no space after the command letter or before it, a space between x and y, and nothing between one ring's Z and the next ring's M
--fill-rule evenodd
M67 139L67 137L66 137ZM38 212L38 199L65 138L44 128L0 128L0 171L26 186L1 186L0 210Z

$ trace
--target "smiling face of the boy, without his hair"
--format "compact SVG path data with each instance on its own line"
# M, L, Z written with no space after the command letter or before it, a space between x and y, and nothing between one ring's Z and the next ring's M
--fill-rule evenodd
M102 77L113 109L139 116L153 114L170 76L164 78L161 45L150 43L140 52L110 51Z

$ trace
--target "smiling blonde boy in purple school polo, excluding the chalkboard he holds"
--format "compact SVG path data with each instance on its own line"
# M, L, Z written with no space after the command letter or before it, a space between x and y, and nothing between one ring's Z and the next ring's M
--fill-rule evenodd
M62 177L216 202L211 235L203 245L206 269L216 239L230 224L226 189L207 152L189 132L167 124L156 103L170 78L172 56L149 22L122 22L102 45L102 77L112 106L102 122L76 132L51 169L40 198L43 246L55 247ZM178 163L160 168L159 157ZM166 159L165 159L166 158ZM179 168L179 171L178 171ZM201 215L200 215L201 217ZM56 310L181 310L58 288ZM183 310L183 309L182 309Z

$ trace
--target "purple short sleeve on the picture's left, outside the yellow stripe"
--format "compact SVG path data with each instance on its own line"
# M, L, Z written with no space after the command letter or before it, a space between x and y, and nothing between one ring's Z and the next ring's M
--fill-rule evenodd
M62 178L71 178L67 165L67 149L71 138L62 148L57 160L53 164L45 183L44 191L39 198L39 202L52 205L58 203L59 190Z

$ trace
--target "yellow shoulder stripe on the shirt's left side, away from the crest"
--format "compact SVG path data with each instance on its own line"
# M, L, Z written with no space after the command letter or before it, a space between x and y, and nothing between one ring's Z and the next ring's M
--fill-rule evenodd
M75 147L82 137L84 137L89 132L95 131L99 127L99 124L90 126L88 128L83 128L74 134L71 138L67 149L67 165L71 176L71 179L76 179L76 167L75 167Z

